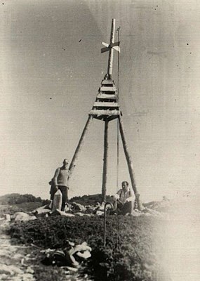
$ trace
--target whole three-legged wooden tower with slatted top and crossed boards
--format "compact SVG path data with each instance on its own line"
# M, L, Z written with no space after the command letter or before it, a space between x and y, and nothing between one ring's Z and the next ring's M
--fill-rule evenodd
M100 89L98 91L98 95L96 96L95 103L93 105L92 110L88 113L88 120L86 122L86 126L84 127L84 131L81 134L81 138L79 140L79 144L74 152L74 156L72 157L72 162L69 166L69 170L72 172L74 167L76 166L76 159L78 158L79 152L84 143L84 138L86 137L86 132L88 131L88 127L91 124L93 118L102 120L105 122L104 129L104 157L103 157L103 172L102 172L102 200L105 201L106 191L107 191L107 150L108 150L108 124L109 121L113 119L119 120L119 131L121 134L121 141L123 143L124 153L126 156L126 161L128 164L128 171L131 178L131 185L133 191L135 193L135 199L138 203L138 209L141 209L140 204L140 195L138 194L134 174L133 174L133 163L131 160L131 155L128 152L128 146L126 144L126 138L124 133L124 125L122 122L122 114L119 108L119 97L117 94L116 86L114 84L114 80L112 79L112 65L113 65L113 55L114 50L120 52L119 42L114 43L114 30L115 30L115 20L112 19L112 27L110 34L109 44L102 43L105 48L101 49L101 52L104 53L109 51L108 65L107 65L107 74L105 74L104 79L101 82Z

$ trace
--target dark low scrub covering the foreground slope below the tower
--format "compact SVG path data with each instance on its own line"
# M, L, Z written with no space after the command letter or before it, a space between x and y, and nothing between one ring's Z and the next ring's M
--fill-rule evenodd
M10 234L17 242L44 248L63 249L66 240L76 244L86 241L93 249L89 266L95 280L149 281L159 280L156 255L161 253L161 243L154 243L159 224L152 217L107 216L106 249L102 247L103 218L98 216L57 216L15 223Z

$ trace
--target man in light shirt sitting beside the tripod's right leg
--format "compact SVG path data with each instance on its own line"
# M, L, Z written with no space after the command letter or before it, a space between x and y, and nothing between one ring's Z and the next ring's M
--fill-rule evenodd
M117 214L127 214L133 211L133 205L135 196L133 190L128 188L128 182L123 181L121 183L121 189L116 192L116 195L113 196L114 198L114 211Z

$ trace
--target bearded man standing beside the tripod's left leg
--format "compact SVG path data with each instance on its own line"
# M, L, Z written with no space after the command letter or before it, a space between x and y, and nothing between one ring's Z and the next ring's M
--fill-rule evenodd
M62 206L61 211L65 209L65 203L68 200L68 178L71 172L67 169L68 160L63 160L62 167L55 170L55 175L52 178L52 183L55 188L55 192L59 189L62 192Z

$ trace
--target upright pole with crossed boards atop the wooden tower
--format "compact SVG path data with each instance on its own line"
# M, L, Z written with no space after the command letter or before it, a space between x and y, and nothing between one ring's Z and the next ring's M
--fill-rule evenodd
M109 44L102 42L102 44L105 46L105 48L101 49L101 53L105 53L105 52L109 51L108 65L107 65L108 79L112 78L113 52L114 52L114 50L116 50L120 53L120 48L119 48L120 42L114 43L114 29L115 29L115 19L113 18L112 25L111 25Z

